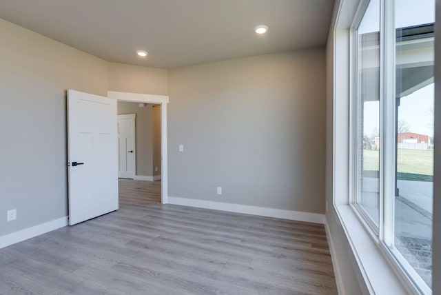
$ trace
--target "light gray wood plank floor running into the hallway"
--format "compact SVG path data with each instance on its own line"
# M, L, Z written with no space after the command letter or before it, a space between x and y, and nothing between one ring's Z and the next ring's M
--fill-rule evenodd
M337 294L323 225L119 187L120 210L0 249L0 294Z

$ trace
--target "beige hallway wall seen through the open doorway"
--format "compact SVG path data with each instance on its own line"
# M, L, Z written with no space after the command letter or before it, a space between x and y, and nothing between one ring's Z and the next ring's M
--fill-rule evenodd
M139 103L118 102L118 114L136 114L136 175L153 176L153 117L152 105L139 108Z

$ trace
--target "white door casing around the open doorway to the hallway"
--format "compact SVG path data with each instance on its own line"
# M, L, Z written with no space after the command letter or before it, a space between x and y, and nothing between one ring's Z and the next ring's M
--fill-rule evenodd
M155 103L161 105L161 203L168 203L167 171L167 103L169 96L107 91L107 97L132 103Z

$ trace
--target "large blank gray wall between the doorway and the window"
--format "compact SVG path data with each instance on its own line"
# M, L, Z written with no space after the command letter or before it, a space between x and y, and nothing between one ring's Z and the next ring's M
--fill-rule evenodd
M325 48L170 70L169 95L170 196L325 213Z

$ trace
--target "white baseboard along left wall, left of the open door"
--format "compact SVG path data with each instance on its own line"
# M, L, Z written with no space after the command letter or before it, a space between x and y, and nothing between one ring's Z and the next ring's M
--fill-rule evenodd
M28 238L45 234L46 232L52 232L52 230L57 230L58 228L65 227L66 225L68 225L68 216L41 223L33 227L28 227L24 230L19 230L18 232L12 232L12 234L0 236L0 249L21 241L25 241Z

